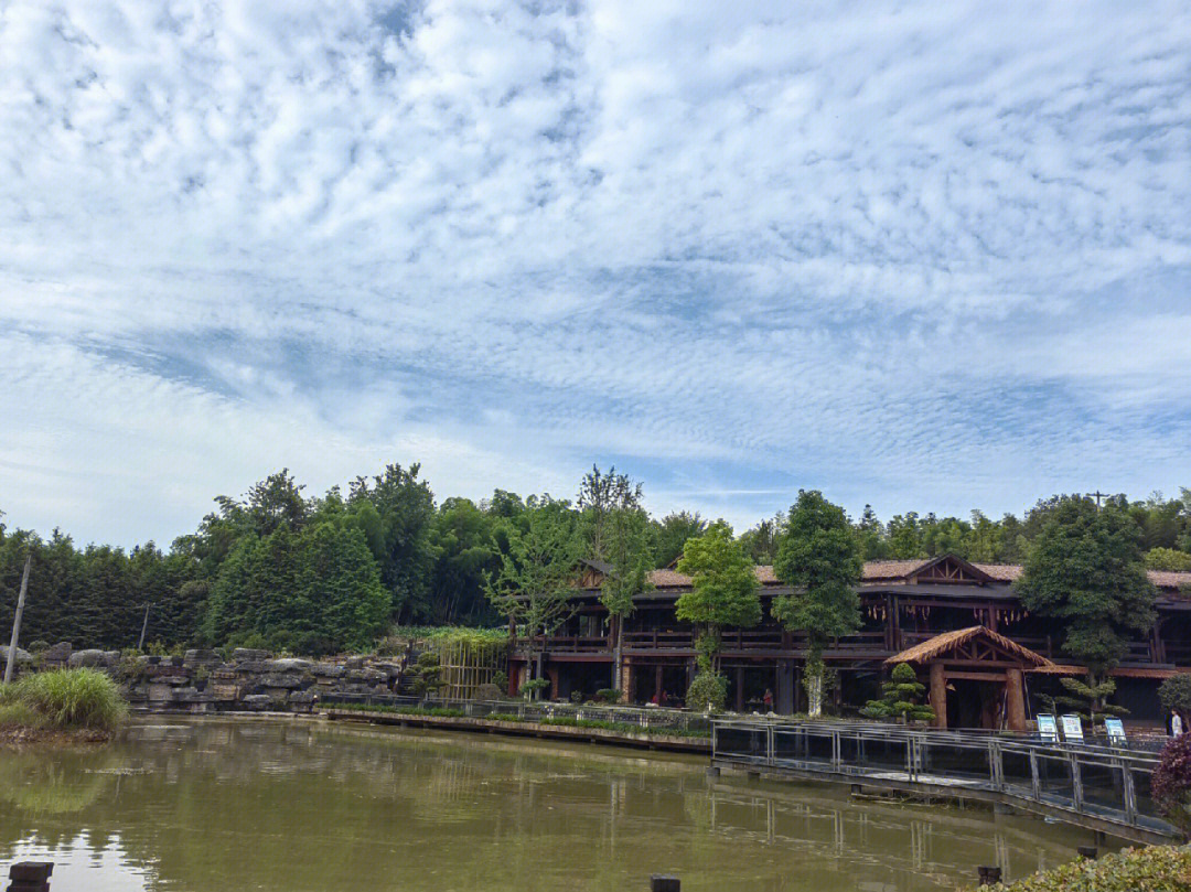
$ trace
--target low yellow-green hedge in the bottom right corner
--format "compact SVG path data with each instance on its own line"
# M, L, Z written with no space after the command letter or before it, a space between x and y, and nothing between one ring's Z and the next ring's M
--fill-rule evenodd
M1151 846L1125 849L1090 861L1077 857L1053 871L989 892L1187 892L1191 890L1191 849Z

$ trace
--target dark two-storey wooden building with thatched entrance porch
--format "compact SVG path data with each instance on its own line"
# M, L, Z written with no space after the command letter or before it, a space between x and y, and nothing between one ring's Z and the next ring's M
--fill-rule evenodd
M694 675L694 630L674 616L674 603L691 580L673 569L654 570L653 588L635 598L636 610L618 629L599 603L607 568L587 563L576 612L538 642L513 641L510 688L526 676L532 655L544 648L550 694L591 697L612 684L616 637L621 637L622 690L630 703L680 703ZM834 670L831 697L862 705L877 697L892 662L909 662L930 684L937 722L955 728L1024 724L1040 692L1058 688L1061 674L1080 674L1061 650L1062 629L1029 613L1012 588L1022 573L1014 564L971 563L954 555L916 561L871 561L858 586L862 626L831 642L823 657ZM772 567L757 567L763 619L752 629L725 629L722 668L730 681L729 707L762 709L766 691L774 711L805 709L802 691L805 636L781 629L769 616L774 595L788 593ZM1137 721L1160 721L1158 684L1191 672L1191 573L1149 574L1158 590L1158 622L1114 670L1115 700Z

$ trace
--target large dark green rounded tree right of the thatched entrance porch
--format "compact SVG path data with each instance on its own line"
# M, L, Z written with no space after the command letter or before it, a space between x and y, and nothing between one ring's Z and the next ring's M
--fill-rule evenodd
M1091 713L1103 712L1115 690L1103 676L1121 661L1128 637L1154 624L1154 587L1146 576L1140 530L1122 501L1110 499L1103 509L1080 495L1046 503L1015 584L1027 610L1062 622L1064 651L1089 672L1078 682L1086 690L1065 687L1089 699Z

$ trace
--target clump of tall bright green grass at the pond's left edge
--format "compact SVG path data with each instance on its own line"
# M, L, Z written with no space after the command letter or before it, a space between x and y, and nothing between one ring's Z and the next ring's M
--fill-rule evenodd
M129 707L111 678L95 669L54 669L0 690L0 728L114 730Z

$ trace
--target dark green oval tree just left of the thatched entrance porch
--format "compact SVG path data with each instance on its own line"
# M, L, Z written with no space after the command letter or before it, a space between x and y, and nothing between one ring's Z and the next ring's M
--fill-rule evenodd
M778 595L771 607L786 629L805 631L809 712L823 711L823 649L830 638L860 628L860 597L855 586L862 570L860 547L837 505L817 489L802 489L778 545L773 572L793 590Z

